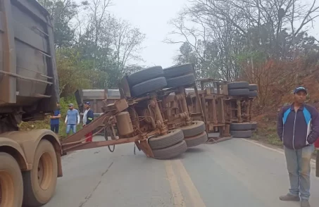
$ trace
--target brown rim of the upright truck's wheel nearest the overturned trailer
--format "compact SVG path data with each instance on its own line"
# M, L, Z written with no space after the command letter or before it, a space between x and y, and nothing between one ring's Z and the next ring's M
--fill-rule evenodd
M39 186L46 190L49 189L52 182L53 163L49 153L43 153L39 159L37 168L37 178Z

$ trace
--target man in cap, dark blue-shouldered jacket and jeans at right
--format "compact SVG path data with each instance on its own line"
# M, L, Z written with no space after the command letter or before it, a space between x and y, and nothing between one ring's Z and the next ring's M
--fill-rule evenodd
M301 199L301 207L310 207L310 162L313 143L319 137L319 113L304 103L306 95L306 88L294 89L294 103L284 106L277 118L277 134L284 144L290 181L289 193L280 196L280 200Z

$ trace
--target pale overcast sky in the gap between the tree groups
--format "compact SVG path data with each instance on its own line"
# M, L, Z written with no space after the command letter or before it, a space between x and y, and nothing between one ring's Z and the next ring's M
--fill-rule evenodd
M187 0L113 0L108 11L116 17L128 20L146 34L143 43L141 65L161 65L168 68L177 55L180 44L166 44L165 37L174 29L168 21L187 4ZM183 39L181 39L183 40Z

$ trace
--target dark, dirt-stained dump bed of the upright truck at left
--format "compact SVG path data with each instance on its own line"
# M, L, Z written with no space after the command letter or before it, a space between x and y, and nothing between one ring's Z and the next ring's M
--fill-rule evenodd
M51 18L35 0L1 0L0 15L0 113L36 120L58 101Z

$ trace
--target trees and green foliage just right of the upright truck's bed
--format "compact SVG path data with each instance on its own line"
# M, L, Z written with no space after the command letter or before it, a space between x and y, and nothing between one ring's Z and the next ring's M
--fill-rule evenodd
M54 23L60 96L76 89L117 87L124 73L139 68L145 35L108 13L110 0L38 0Z

